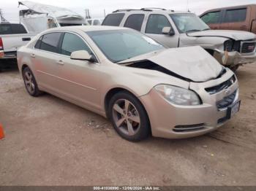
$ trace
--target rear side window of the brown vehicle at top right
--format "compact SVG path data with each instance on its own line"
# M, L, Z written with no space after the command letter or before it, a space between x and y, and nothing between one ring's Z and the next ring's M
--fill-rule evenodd
M229 9L223 18L224 23L243 22L246 20L247 9Z

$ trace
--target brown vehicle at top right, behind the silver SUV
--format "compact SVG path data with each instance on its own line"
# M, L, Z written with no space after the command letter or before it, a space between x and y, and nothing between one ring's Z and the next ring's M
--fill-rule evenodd
M211 9L200 15L211 29L249 31L256 34L256 4Z

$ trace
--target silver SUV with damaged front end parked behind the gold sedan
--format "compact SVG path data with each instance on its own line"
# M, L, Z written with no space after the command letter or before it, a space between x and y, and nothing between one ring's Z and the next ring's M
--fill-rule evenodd
M120 9L103 26L124 26L142 32L167 47L201 46L224 66L236 71L256 61L256 35L246 31L211 30L191 12L167 9Z

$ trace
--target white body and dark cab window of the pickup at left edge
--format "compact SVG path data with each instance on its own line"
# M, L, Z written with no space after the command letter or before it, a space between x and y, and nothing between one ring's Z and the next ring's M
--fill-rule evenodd
M0 35L3 35L4 52L16 52L19 47L31 40L31 36L34 36L27 34L21 24L1 24Z

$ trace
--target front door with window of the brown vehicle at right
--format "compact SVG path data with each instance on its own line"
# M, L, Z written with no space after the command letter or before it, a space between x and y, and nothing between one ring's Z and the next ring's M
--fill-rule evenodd
M222 18L222 11L215 10L212 12L207 12L206 14L200 17L203 22L205 22L211 29L217 30L219 29L219 24Z

